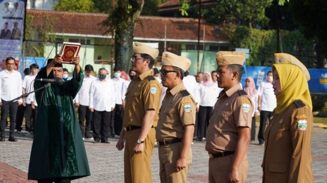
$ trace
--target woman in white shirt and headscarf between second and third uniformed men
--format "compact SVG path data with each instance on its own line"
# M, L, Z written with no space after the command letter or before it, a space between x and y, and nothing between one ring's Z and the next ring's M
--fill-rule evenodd
M210 115L219 95L218 85L212 81L210 72L204 73L203 82L199 85L199 91L198 137L200 141L205 141Z

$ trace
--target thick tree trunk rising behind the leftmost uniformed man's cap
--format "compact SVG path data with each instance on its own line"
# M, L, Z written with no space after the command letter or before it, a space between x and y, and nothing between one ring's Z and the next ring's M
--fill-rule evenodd
M130 69L135 22L140 17L143 4L144 0L117 0L117 7L103 21L109 26L107 33L115 33L115 65L124 70Z

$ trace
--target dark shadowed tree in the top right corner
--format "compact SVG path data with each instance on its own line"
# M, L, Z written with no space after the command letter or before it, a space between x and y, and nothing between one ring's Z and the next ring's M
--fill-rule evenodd
M324 0L294 0L291 8L303 33L315 40L316 67L323 68L327 56L327 4Z

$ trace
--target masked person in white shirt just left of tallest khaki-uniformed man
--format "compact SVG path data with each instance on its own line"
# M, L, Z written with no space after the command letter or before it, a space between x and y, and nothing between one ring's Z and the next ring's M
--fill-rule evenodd
M111 128L113 126L113 129L111 129L111 136L114 137L115 135L120 135L120 131L123 127L123 109L122 109L122 90L123 90L123 84L125 80L120 77L121 76L121 70L119 67L114 68L114 78L112 79L114 83L114 89L116 93L115 97L115 110L113 112L113 117L111 118ZM114 132L114 134L113 134Z

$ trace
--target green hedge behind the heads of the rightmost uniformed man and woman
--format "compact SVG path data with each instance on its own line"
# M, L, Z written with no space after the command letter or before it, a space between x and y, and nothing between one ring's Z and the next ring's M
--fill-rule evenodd
M250 49L247 65L270 66L273 53L277 50L276 30L262 30L246 26L223 28L223 32L234 47ZM312 40L306 39L299 31L281 30L283 52L292 54L306 66L312 67L312 58L302 55L312 55Z

